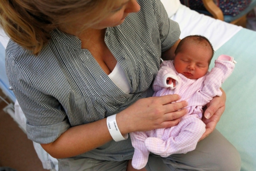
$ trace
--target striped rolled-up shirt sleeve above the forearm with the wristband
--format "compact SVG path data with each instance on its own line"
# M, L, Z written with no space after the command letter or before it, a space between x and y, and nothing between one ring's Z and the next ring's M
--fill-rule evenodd
M8 51L6 55L7 76L26 116L28 138L40 144L53 142L70 127L60 102L35 88L12 55Z

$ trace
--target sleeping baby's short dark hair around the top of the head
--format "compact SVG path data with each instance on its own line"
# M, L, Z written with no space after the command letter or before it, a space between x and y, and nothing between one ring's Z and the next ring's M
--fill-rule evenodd
M187 41L191 41L193 43L202 44L202 45L204 44L206 47L210 45L210 48L211 48L211 51L212 51L212 55L211 55L211 58L210 58L210 61L209 61L209 65L210 65L211 59L214 55L214 49L212 47L211 42L206 37L201 36L201 35L190 35L190 36L187 36L187 37L181 39L181 41L178 44L174 54L177 55L180 51L182 51L182 45Z

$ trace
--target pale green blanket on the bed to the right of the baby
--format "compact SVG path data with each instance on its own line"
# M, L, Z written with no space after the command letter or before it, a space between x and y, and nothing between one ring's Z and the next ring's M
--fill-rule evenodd
M216 51L210 68L221 54L234 57L237 64L222 85L226 110L217 129L240 152L241 171L256 171L256 32L240 30Z

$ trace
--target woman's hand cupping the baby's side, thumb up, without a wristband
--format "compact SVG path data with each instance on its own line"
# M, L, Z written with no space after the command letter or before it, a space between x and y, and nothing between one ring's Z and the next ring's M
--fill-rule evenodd
M200 140L207 137L216 127L222 113L225 110L226 93L221 89L222 96L214 97L206 106L207 109L204 112L202 121L206 124L206 131L200 138ZM199 141L200 141L199 140Z

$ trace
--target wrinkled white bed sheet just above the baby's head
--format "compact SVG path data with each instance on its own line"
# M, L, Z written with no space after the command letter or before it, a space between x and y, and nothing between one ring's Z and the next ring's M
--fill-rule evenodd
M167 7L166 9L171 10ZM182 4L170 19L179 23L181 39L188 35L203 35L210 40L215 51L242 29L241 26L199 14Z

